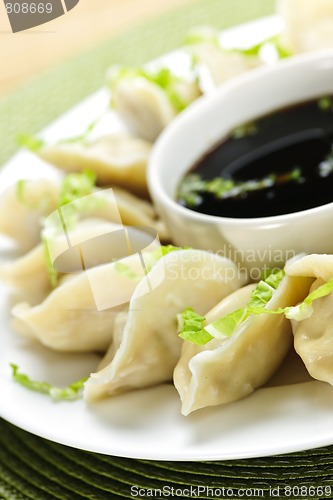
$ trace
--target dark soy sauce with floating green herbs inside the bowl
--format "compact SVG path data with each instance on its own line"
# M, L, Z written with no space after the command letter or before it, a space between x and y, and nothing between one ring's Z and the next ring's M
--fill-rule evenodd
M280 109L239 127L202 157L184 177L178 201L200 213L237 218L325 205L333 201L332 146L332 97ZM291 175L294 172L298 175ZM199 183L195 196L183 196L190 178L203 182L223 178L240 186L274 180L260 189L234 189L222 197L200 189Z

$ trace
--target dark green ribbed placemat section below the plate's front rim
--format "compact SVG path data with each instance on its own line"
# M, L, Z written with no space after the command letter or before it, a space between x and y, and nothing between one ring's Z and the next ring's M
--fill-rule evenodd
M0 498L333 498L333 447L251 460L153 462L75 450L1 420L0 447Z

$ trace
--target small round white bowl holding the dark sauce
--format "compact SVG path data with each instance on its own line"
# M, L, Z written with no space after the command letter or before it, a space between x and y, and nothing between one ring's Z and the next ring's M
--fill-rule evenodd
M183 175L236 126L329 94L333 94L333 52L325 51L253 70L181 113L157 140L148 169L151 196L174 243L220 252L253 274L266 266L281 266L300 252L333 253L333 203L287 215L240 219L197 213L175 201Z

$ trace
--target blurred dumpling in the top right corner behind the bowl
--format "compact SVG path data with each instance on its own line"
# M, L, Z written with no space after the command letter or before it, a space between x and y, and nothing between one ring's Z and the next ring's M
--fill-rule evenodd
M293 52L333 47L332 0L280 0L282 41Z

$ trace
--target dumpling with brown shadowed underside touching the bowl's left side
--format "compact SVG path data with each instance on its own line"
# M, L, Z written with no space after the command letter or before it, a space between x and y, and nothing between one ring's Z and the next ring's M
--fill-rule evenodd
M115 184L146 195L150 151L151 144L143 139L113 134L88 143L44 145L38 155L66 172L92 170L99 184Z

